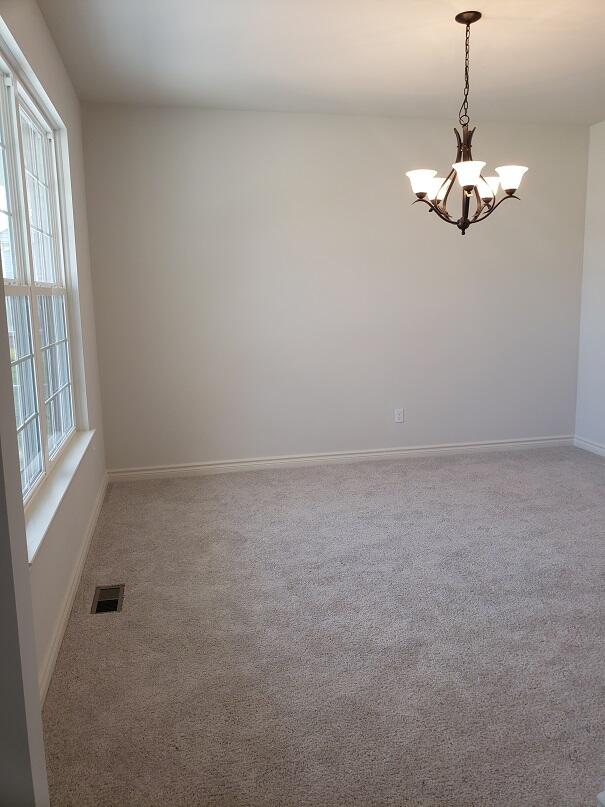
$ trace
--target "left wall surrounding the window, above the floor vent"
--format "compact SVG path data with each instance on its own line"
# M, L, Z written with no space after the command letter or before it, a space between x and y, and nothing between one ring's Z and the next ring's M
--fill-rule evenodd
M31 564L34 630L40 675L48 670L60 639L66 597L105 477L101 400L84 189L80 105L61 58L33 0L0 0L0 15L66 125L72 181L78 288L70 303L82 319L82 362L85 376L83 409L97 430L67 490L46 537ZM82 387L80 393L82 397Z

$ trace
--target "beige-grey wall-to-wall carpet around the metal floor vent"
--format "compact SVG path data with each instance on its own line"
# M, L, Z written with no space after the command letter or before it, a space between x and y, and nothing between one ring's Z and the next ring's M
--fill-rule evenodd
M113 484L44 722L54 807L591 807L605 461Z

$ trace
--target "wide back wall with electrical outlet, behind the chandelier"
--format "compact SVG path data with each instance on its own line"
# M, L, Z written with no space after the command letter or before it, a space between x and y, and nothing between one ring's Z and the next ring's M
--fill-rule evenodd
M451 121L84 110L110 468L573 434L585 129L481 125L530 171L461 237Z

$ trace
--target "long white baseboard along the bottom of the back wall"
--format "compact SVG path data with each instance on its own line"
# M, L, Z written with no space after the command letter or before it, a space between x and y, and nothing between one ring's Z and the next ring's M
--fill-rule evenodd
M484 451L511 451L545 446L571 446L573 435L554 437L520 438L516 440L492 440L480 443L443 443L431 446L405 448L381 448L364 451L336 451L326 454L292 454L282 457L257 457L228 462L199 462L183 465L154 465L143 468L114 468L107 472L110 481L134 481L140 479L167 479L182 476L206 476L237 471L260 471L272 468L298 468L304 465L328 465L368 460L398 460L407 457L428 457L444 454L467 454Z

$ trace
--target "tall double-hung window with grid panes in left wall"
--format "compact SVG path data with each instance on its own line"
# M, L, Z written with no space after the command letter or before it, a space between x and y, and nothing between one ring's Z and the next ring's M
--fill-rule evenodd
M6 69L0 90L0 257L28 499L75 430L56 133Z

